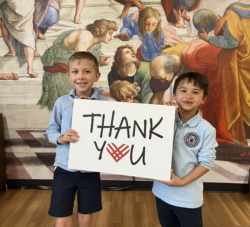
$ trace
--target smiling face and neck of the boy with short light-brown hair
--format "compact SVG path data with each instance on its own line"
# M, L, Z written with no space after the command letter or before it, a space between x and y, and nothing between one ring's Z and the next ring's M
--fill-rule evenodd
M89 59L75 60L69 65L69 80L76 89L76 96L82 95L90 97L92 95L92 86L100 78L94 68L94 62Z

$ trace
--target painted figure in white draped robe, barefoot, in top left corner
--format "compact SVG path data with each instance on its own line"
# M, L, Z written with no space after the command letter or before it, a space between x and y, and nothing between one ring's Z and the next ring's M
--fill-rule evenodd
M5 56L17 56L20 67L26 62L27 73L35 78L33 70L35 56L35 32L33 29L34 0L6 0L1 5L1 30L3 39L9 47Z

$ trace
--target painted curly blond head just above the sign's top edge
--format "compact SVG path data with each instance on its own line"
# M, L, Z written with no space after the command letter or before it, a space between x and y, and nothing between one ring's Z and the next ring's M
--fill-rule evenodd
M136 97L138 91L135 84L131 84L126 80L117 80L110 87L110 95L118 102L130 98L132 95Z

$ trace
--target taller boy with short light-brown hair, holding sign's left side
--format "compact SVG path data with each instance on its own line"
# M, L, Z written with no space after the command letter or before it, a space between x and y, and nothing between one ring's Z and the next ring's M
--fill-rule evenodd
M57 144L49 214L56 217L56 227L71 227L77 191L78 225L91 227L92 213L102 209L100 173L68 168L69 143L79 140L78 133L71 129L72 102L78 98L106 101L108 98L92 88L100 73L97 59L91 53L76 52L70 57L68 78L74 89L57 99L47 128L49 141Z

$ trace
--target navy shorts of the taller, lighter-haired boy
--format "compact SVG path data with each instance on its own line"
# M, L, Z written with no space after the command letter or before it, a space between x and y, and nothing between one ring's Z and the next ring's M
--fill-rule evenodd
M58 218L71 216L76 192L78 213L92 214L102 209L100 173L70 172L57 167L49 215Z

